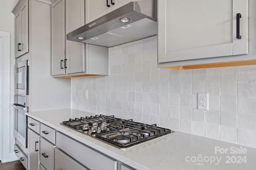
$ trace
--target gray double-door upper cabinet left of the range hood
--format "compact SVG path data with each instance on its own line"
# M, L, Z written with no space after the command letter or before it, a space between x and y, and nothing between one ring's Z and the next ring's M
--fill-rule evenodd
M66 39L68 33L85 24L85 3L85 0L56 0L52 4L52 76L108 75L107 47Z

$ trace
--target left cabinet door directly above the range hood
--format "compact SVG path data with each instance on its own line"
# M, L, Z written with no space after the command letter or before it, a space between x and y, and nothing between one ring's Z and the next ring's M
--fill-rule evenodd
M86 0L86 24L112 11L111 0Z

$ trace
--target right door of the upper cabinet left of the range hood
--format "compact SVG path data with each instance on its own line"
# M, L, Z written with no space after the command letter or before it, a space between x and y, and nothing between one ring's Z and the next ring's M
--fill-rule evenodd
M66 0L66 34L84 25L84 0ZM84 72L84 43L66 40L66 74Z

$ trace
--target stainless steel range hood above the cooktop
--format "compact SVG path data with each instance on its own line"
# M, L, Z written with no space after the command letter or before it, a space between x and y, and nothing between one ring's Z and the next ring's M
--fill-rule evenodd
M129 19L124 23L120 19ZM114 47L157 35L157 0L130 2L67 34L67 40Z

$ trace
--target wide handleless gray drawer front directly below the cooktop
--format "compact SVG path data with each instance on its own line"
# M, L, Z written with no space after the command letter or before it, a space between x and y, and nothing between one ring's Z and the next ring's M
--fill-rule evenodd
M66 152L89 169L117 170L116 160L108 158L59 132L56 132L56 147Z

